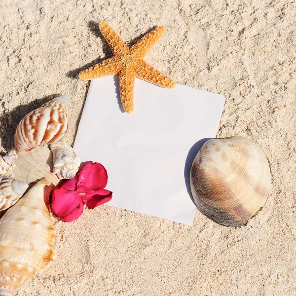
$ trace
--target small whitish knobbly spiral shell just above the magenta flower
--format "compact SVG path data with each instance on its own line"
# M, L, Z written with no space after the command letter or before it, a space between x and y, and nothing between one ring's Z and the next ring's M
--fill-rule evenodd
M80 158L67 143L56 142L50 145L53 153L53 173L59 179L73 179L80 166Z

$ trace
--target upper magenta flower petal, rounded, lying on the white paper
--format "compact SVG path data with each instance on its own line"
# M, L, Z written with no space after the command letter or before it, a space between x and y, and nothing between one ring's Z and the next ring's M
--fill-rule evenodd
M99 190L106 187L107 181L108 175L104 166L100 163L89 161L79 172L77 189L81 186L89 190Z

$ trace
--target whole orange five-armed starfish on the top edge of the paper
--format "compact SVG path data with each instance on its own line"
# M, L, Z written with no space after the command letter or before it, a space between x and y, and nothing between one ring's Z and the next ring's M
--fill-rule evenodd
M136 77L162 87L172 88L175 86L176 83L173 80L143 60L149 49L163 34L163 26L148 33L131 47L128 47L106 22L101 21L99 28L108 41L114 56L80 72L78 75L80 79L88 80L118 74L121 102L124 110L128 113L134 110L133 93Z

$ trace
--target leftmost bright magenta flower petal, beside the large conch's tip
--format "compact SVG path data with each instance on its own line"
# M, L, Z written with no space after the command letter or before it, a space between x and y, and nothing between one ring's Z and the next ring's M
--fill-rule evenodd
M62 185L52 193L51 208L56 216L64 217L70 215L80 202L76 191L69 191Z

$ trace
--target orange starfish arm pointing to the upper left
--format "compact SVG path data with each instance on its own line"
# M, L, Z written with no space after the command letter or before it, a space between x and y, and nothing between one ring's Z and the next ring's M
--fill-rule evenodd
M101 21L99 23L99 28L102 35L105 37L109 46L111 47L111 50L114 55L122 55L127 54L129 52L129 47L124 44L121 38L105 21Z

